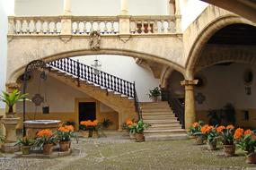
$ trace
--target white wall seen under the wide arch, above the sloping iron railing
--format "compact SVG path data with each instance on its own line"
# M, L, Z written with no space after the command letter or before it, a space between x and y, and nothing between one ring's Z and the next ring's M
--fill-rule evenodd
M136 82L136 89L139 101L150 101L146 95L149 89L159 86L160 80L154 79L153 73L137 65L134 58L121 55L97 55L102 63L102 71L109 72L126 81ZM75 57L75 60L91 65L95 55Z

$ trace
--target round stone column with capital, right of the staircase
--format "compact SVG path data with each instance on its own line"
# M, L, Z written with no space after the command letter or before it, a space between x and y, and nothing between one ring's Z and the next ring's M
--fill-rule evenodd
M181 85L185 86L185 128L189 129L192 123L196 121L196 107L194 97L194 85L199 80L184 80Z

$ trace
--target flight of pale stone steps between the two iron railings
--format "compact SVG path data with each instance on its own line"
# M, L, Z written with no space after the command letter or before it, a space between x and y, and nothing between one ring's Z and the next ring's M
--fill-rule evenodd
M187 133L172 113L167 102L141 103L142 117L151 126L145 131L146 140L186 140Z

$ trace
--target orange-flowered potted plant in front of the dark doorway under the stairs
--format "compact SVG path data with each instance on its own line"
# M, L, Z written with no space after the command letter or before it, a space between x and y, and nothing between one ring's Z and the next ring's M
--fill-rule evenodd
M88 137L93 137L93 132L95 132L95 135L97 136L97 130L98 130L98 121L94 120L88 120L88 121L82 121L80 123L80 129L83 131L88 131Z

